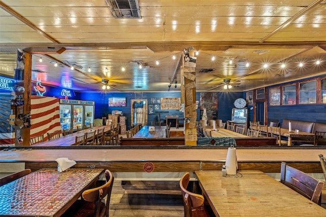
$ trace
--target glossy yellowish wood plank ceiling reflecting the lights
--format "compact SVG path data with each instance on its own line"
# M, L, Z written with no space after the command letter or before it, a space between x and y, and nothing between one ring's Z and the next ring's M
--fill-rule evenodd
M199 51L197 91L222 91L226 78L245 91L326 74L326 1L138 4L141 18L127 19L105 0L0 1L0 75L14 76L18 48L33 53L34 81L77 91L101 91L102 79L110 91L180 91L184 49Z

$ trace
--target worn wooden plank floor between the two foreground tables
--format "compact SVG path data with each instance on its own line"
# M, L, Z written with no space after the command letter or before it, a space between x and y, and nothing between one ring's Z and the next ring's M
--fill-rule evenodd
M178 181L114 181L110 216L183 216Z

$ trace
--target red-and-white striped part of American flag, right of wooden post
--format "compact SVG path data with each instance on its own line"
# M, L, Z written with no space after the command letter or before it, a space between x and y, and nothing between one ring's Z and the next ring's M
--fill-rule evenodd
M61 130L59 99L52 97L31 96L31 133L30 137L53 133Z

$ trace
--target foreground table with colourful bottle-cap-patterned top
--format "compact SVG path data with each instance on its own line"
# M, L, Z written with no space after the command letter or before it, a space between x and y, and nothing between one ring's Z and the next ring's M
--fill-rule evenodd
M104 169L41 169L0 187L0 216L60 216Z

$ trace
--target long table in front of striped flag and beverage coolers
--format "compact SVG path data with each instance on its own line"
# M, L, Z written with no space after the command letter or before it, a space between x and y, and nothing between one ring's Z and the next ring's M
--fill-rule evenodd
M98 129L101 129L104 127L104 132L108 132L111 130L111 126L97 126L91 128L93 131L95 131L95 135L97 133ZM74 145L76 141L76 136L82 136L86 132L89 132L91 129L85 129L81 131L77 131L75 133L66 135L66 136L60 136L58 139L52 139L52 140L47 140L44 142L36 143L33 146L70 146Z

